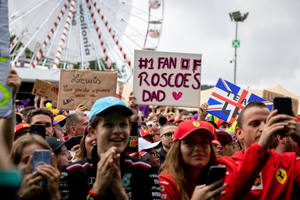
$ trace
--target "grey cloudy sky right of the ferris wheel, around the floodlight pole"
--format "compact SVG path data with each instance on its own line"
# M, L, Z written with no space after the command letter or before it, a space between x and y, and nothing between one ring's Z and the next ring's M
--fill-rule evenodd
M278 84L300 96L300 1L166 0L158 51L202 53L202 84L219 77L233 83L235 22L229 12L249 12L238 23L237 85Z

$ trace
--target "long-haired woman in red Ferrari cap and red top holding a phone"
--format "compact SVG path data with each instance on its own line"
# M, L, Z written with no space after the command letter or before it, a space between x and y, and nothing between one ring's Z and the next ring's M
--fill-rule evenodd
M209 167L216 164L212 148L215 128L205 121L188 120L174 132L173 145L160 168L162 199L217 199L225 194L223 180L205 185Z

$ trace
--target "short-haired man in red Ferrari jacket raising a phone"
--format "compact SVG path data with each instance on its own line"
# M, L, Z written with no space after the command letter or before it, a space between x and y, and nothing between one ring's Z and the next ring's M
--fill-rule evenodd
M284 130L300 144L295 117L270 113L262 102L250 102L239 114L235 129L245 149L218 159L227 168L226 195L220 199L296 199L300 187L300 157L293 152L268 150L276 132ZM233 173L234 172L234 173Z

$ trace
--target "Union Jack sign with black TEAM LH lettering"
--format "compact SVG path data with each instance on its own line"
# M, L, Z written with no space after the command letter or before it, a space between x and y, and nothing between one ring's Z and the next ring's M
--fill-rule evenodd
M253 101L263 102L271 111L273 103L256 96L222 78L219 78L211 97L208 99L206 112L232 124L239 112Z

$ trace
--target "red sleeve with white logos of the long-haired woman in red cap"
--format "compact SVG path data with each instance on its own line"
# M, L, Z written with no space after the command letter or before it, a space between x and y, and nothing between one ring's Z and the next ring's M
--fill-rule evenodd
M158 176L161 185L161 199L174 200L180 199L177 185L170 174L162 174ZM178 198L179 197L179 198Z

